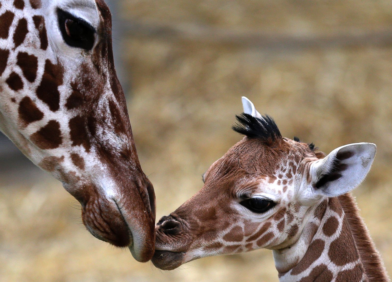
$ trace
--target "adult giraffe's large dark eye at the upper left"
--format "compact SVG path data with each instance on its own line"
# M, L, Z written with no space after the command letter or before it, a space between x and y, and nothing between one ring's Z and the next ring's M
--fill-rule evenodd
M58 25L65 43L89 51L94 46L95 29L85 20L57 9Z

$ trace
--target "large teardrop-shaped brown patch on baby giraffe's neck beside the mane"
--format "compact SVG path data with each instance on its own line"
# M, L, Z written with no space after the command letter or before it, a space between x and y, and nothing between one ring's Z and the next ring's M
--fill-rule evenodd
M344 266L358 259L354 238L347 226L347 219L343 220L342 230L338 238L330 244L329 259L337 266Z

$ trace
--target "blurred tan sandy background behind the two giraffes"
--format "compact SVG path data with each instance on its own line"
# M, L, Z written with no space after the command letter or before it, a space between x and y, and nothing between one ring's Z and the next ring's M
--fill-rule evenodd
M201 188L203 172L241 139L230 127L247 96L284 136L324 152L377 144L372 170L354 194L392 272L392 44L376 42L392 31L392 2L121 3L114 17L130 20L133 30L115 44L125 50L130 119L156 191L157 219ZM270 42L252 41L265 33ZM350 34L363 33L376 38L346 44ZM337 42L320 43L325 35ZM319 44L286 44L287 36ZM275 39L278 45L268 47ZM0 143L0 281L278 281L268 250L200 259L170 272L137 263L129 251L93 238L60 183Z

